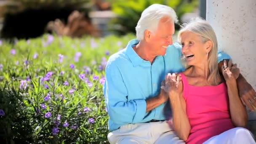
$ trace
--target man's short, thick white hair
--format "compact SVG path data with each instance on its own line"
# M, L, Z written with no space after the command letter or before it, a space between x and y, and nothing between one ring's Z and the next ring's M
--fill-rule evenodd
M145 30L155 32L160 19L163 17L169 17L173 22L178 22L176 12L169 6L153 4L146 8L141 13L141 18L139 19L136 26L137 39L144 39Z

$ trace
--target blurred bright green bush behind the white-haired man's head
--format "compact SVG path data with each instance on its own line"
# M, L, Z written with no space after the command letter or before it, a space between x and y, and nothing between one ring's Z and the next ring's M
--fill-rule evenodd
M135 34L135 27L142 11L154 3L173 8L179 20L184 13L192 12L198 6L198 0L113 0L112 11L117 17L111 21L112 30L115 29L115 33L121 35L127 32ZM179 28L176 24L176 29Z

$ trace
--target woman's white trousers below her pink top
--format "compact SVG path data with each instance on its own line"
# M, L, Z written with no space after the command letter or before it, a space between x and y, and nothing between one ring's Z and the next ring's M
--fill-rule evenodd
M203 144L256 144L256 142L249 130L237 127L213 136Z

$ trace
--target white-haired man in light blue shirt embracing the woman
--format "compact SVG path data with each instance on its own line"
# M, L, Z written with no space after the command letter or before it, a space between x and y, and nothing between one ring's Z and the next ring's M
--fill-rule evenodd
M184 143L167 123L168 96L160 88L167 73L184 70L181 45L172 40L175 22L172 8L149 6L136 26L137 39L109 57L103 89L111 144ZM230 57L219 53L218 59ZM243 77L238 81L249 85Z

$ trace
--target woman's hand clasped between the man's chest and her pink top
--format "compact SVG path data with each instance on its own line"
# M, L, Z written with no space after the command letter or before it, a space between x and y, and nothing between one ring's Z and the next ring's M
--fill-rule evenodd
M168 73L165 76L165 85L162 85L163 88L169 96L173 96L173 94L182 94L183 85L181 83L181 75L177 75L175 73Z

